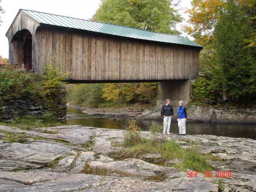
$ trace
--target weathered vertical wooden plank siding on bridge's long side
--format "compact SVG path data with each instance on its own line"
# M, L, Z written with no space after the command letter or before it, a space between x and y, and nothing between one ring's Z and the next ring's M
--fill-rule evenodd
M42 72L45 58L60 49L60 67L72 72L72 80L189 79L190 65L191 78L199 74L199 49L49 29L35 37L35 71Z

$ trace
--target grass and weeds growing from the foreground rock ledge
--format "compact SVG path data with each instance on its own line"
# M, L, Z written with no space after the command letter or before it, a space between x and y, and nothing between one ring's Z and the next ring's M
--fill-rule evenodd
M173 166L182 171L191 169L203 173L206 170L214 169L206 160L206 157L213 157L211 155L204 156L200 153L199 147L196 144L189 145L188 148L181 147L175 139L167 139L165 135L161 134L162 126L154 122L149 130L151 131L151 138L142 138L136 120L128 121L125 127L126 133L123 143L123 146L127 148L118 151L118 157L143 159L145 154L159 154L161 158L155 159L155 161L167 162L171 159L181 159L180 163Z

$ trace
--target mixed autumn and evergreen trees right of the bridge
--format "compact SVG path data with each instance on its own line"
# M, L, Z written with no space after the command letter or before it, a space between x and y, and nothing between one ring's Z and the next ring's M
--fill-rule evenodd
M200 70L223 99L253 98L256 79L256 0L192 0L184 29L204 46ZM200 87L199 87L200 89Z

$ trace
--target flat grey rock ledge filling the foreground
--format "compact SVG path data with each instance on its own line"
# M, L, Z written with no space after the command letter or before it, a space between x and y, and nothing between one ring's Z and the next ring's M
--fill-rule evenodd
M150 137L150 132L141 134ZM109 153L120 150L113 143L123 142L123 130L67 125L25 131L0 125L0 191L256 191L256 140L212 135L165 136L183 147L197 143L202 153L221 158L211 162L216 170L212 177L202 173L188 177L187 172L180 172L170 162L160 166L140 159L110 158ZM150 158L157 158L157 154L144 157ZM220 172L231 172L232 176L217 178Z

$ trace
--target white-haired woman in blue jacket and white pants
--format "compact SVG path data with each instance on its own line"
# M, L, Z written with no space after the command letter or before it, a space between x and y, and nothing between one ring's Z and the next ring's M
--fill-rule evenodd
M187 121L187 111L183 106L183 102L179 102L178 107L178 126L179 126L179 134L178 135L186 135L186 121Z

